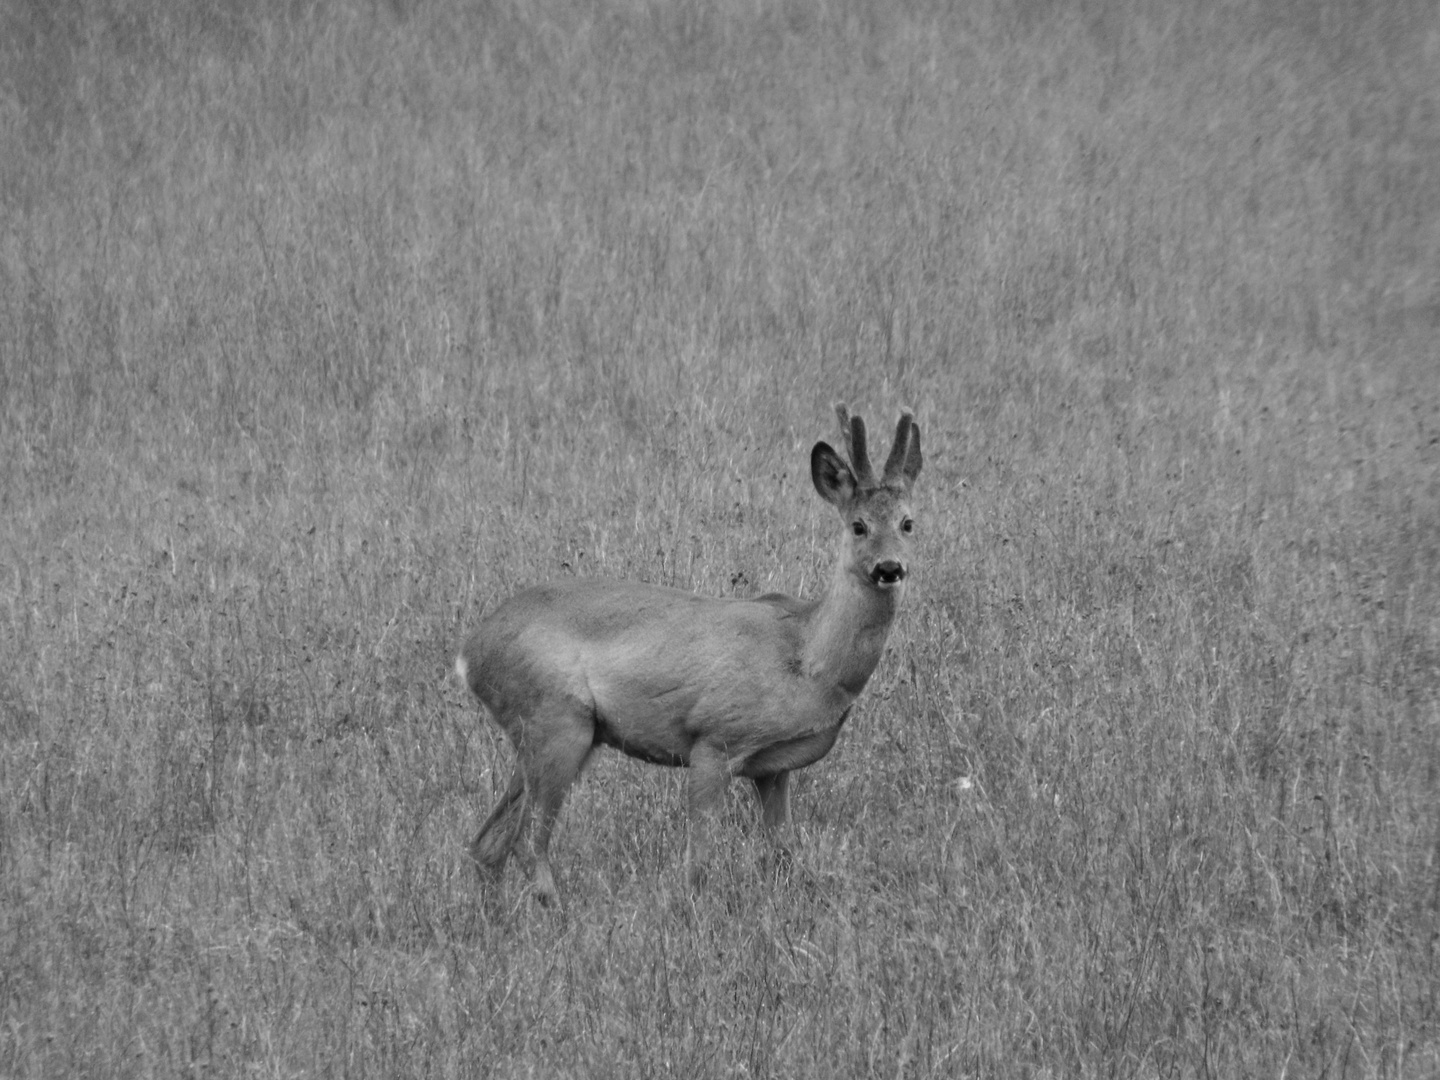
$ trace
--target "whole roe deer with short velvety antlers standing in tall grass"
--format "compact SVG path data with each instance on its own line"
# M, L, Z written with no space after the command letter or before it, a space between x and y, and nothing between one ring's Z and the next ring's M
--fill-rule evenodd
M850 454L811 451L811 480L842 518L835 570L818 600L766 593L713 599L638 582L569 577L516 593L465 642L455 670L514 743L510 788L469 845L498 876L539 811L534 888L559 899L550 834L590 752L613 746L690 766L691 886L704 876L708 818L732 776L755 782L768 829L789 816L792 769L835 744L880 661L904 593L920 474L920 428L900 415L877 478L865 425L835 406Z

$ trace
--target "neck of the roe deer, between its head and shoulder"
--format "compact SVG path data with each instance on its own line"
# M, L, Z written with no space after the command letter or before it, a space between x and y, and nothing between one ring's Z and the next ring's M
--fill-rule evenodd
M876 589L841 560L811 615L805 672L855 698L880 662L901 589Z

